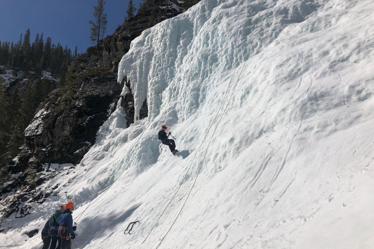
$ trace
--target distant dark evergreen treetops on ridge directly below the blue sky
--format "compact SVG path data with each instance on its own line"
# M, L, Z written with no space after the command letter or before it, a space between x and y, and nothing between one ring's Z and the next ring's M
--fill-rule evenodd
M34 70L36 72L49 71L56 76L66 72L71 62L79 55L77 47L72 53L66 45L52 43L51 37L44 41L43 33L35 37L31 42L30 29L14 44L8 41L0 41L0 65L21 70Z

